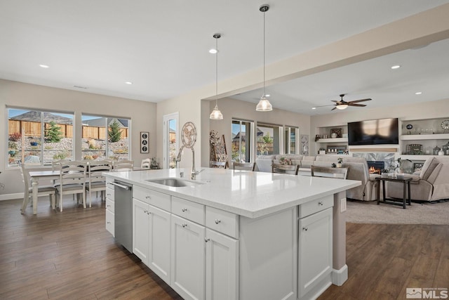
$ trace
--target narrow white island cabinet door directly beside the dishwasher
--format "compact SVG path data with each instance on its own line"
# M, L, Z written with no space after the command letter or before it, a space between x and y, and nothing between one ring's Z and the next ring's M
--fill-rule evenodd
M149 205L133 199L133 253L148 266Z

